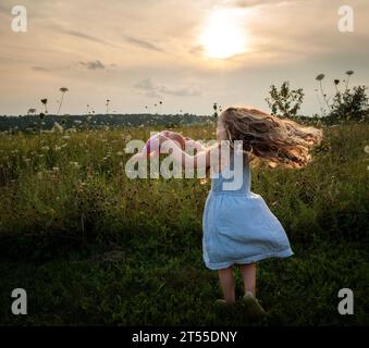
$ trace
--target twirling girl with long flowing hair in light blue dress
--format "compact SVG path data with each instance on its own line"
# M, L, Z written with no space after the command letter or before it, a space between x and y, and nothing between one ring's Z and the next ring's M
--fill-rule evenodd
M218 270L224 296L217 303L235 303L232 268L238 264L245 289L243 300L250 316L265 314L256 299L256 262L272 257L286 258L294 253L279 220L262 197L250 190L250 162L265 161L272 167L279 164L303 167L311 161L309 150L319 145L321 138L320 129L244 105L229 107L220 114L218 144L194 157L160 136L161 147L169 147L174 161L182 166L188 165L192 158L195 169L210 169L212 173L218 173L218 178L212 177L202 217L202 258L208 269ZM242 144L242 186L235 190L225 190L223 184L227 179L224 174L236 166L233 159L235 140ZM231 156L223 151L221 144L224 141L231 145ZM217 153L213 150L220 153L216 163L212 161L212 153ZM234 173L237 175L239 172Z

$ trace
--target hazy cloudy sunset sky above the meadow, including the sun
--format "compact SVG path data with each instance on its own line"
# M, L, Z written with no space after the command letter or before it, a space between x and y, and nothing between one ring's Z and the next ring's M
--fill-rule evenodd
M27 10L14 33L15 4ZM339 8L354 10L354 32L339 30ZM209 114L212 103L268 110L271 84L290 80L306 94L303 112L319 112L315 77L355 71L369 82L367 0L0 0L0 114L81 114L89 104L118 113Z

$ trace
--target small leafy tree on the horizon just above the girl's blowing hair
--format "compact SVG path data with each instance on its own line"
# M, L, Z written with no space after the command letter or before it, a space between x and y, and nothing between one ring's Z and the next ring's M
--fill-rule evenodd
M270 88L270 98L267 97L266 101L272 114L280 117L295 116L303 104L305 96L303 88L290 89L288 82L284 82L280 89L275 85L271 85Z

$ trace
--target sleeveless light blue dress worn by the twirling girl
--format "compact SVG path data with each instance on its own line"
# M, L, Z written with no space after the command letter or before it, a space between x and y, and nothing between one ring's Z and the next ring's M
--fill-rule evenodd
M202 258L206 266L221 270L235 263L294 254L279 220L262 197L250 191L249 163L244 161L239 165L238 161L234 161L232 151L230 160L219 177L211 179L211 190L205 204ZM227 175L241 166L241 188L224 189L224 183L235 179L226 178Z

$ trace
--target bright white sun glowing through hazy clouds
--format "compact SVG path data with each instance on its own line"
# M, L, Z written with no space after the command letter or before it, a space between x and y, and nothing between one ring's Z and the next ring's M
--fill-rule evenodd
M200 35L206 57L226 59L247 51L247 35L241 20L242 12L226 9L209 15Z

